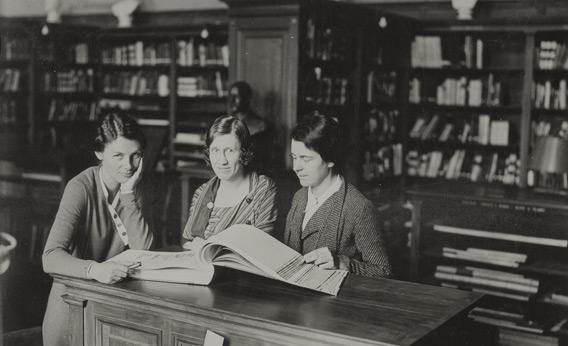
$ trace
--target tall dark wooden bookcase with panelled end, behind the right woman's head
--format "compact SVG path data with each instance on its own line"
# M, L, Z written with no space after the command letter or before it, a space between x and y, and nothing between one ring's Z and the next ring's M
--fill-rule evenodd
M362 52L365 29L377 12L325 0L226 2L230 79L252 85L254 108L278 129L277 161L291 168L290 130L301 116L318 111L340 122L347 139L346 175L357 180Z

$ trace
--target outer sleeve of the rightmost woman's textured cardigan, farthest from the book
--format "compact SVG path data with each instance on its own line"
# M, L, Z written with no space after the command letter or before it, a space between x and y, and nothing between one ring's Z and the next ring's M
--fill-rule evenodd
M353 215L355 246L361 260L352 258L350 271L370 277L389 277L391 266L380 234L378 215L371 202Z

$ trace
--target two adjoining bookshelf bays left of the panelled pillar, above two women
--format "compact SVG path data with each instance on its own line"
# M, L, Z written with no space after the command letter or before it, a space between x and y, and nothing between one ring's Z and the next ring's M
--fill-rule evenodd
M143 126L165 126L160 161L171 168L202 164L203 134L226 112L228 37L225 26L105 29L99 105Z

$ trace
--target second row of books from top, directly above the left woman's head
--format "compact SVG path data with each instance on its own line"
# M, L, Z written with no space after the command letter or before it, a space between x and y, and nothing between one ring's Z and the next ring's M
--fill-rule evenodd
M157 71L107 73L103 76L104 93L168 96L169 76Z

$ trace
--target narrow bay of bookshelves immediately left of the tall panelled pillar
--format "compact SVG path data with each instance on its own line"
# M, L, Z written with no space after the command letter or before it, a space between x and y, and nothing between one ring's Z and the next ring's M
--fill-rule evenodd
M216 117L227 113L228 32L208 27L175 40L177 106L171 150L177 168L203 166L205 133Z

